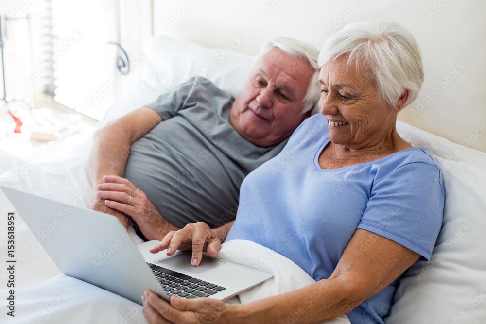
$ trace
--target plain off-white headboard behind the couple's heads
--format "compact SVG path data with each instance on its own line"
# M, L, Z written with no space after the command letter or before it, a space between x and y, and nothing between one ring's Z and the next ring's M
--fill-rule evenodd
M399 120L486 152L484 0L153 0L154 35L255 54L287 36L321 49L350 22L393 20L423 52L425 82Z

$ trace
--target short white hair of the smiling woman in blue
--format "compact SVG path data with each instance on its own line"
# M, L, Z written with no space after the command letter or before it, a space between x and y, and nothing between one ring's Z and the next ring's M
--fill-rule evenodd
M382 99L396 106L408 90L403 106L413 102L424 81L422 54L414 36L394 22L358 22L347 25L324 44L319 67L348 55L347 64L368 67Z

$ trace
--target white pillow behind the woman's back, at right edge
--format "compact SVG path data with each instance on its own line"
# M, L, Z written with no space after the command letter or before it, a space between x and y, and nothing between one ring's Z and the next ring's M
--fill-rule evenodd
M484 167L486 153L447 145L445 139L405 123L398 126L401 136L435 155L446 201L431 260L417 261L400 279L385 323L486 323L486 170L459 161L467 153Z

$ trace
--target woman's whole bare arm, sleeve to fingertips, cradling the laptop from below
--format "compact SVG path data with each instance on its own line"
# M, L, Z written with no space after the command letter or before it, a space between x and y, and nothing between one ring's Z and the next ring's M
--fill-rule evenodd
M248 304L226 305L214 299L144 299L149 323L320 323L347 314L381 291L419 255L378 234L358 229L328 279ZM163 318L163 319L162 319Z

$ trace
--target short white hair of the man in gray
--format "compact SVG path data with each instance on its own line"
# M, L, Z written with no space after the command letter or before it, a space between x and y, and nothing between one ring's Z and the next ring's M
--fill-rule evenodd
M308 61L314 69L314 74L312 75L309 87L307 89L307 94L304 98L304 108L302 108L300 112L301 114L305 114L306 112L310 111L319 101L319 66L317 65L317 56L319 55L319 51L311 44L301 42L293 38L278 37L263 44L260 51L253 59L252 68L257 64L257 62L263 55L273 50L274 48L278 48L286 52L287 54L295 56L296 58L299 58L301 60L303 59ZM295 68L295 66L289 67L290 70L292 68Z

